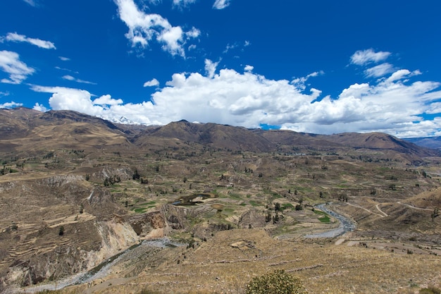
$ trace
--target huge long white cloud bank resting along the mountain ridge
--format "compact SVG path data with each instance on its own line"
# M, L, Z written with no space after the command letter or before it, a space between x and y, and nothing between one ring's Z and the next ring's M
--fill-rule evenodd
M381 131L398 137L441 133L441 118L425 121L422 114L441 113L441 83L411 77L419 71L399 70L373 83L354 83L335 98L321 90L288 80L224 68L205 61L206 75L175 73L166 87L151 96L151 102L125 104L104 95L92 100L85 90L34 86L49 92L52 109L71 109L106 119L125 116L146 124L170 121L213 122L258 128L262 123L308 133ZM251 68L251 66L249 66ZM306 81L318 71L299 78Z

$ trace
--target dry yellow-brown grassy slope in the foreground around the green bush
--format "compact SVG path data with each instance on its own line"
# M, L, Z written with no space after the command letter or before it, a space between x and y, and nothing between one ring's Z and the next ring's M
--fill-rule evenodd
M241 240L252 244L232 247ZM441 257L323 241L274 240L263 230L223 231L196 249L162 252L163 262L129 281L112 279L70 293L244 293L251 278L283 269L308 293L413 293L441 285ZM178 260L180 262L178 263ZM118 285L118 282L120 284ZM148 293L148 292L147 292Z

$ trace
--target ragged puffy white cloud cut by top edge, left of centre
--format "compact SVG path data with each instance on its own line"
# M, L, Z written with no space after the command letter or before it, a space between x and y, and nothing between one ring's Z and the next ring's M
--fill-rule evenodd
M184 45L188 39L197 38L200 31L192 27L185 32L180 26L171 25L166 18L156 13L140 11L133 0L115 0L119 17L129 31L125 34L132 47L145 48L152 40L162 44L163 51L185 57Z

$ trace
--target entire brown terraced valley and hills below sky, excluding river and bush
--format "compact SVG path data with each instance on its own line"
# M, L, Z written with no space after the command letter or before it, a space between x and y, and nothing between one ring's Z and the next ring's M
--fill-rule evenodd
M310 293L438 285L440 159L423 159L431 154L379 133L1 110L0 293L36 293L99 269L57 293L242 293L268 269L303 275ZM417 160L424 169L409 165ZM355 231L335 243L305 239L338 226L313 208L323 202ZM187 246L166 247L156 239L164 236Z

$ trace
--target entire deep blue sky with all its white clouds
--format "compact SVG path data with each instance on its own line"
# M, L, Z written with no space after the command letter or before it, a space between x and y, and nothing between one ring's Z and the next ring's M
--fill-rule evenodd
M0 108L441 135L438 0L1 0Z

